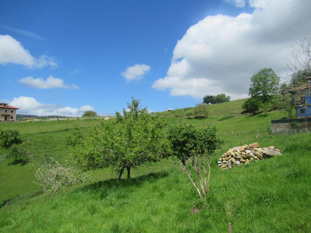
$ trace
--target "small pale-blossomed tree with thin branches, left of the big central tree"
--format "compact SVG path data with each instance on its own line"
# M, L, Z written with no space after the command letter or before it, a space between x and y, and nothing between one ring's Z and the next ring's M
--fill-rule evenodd
M63 186L71 186L77 182L90 182L92 180L91 176L75 167L62 167L52 158L50 158L50 161L45 160L45 163L34 172L38 180L35 184L41 185L44 193L50 188L50 195L53 195Z

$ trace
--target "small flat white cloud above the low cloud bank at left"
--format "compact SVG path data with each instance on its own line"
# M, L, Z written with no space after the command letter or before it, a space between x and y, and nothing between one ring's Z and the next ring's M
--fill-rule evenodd
M18 80L18 82L22 84L26 84L30 87L35 87L39 89L51 89L51 88L66 88L66 89L78 89L79 86L74 84L65 84L63 79L54 78L50 75L46 80L43 78L33 78L33 77L26 77Z

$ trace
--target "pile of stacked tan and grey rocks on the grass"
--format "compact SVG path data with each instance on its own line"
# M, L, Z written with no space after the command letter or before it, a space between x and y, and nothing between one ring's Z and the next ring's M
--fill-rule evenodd
M250 145L237 146L229 149L224 153L218 161L218 167L222 169L230 169L233 166L240 166L250 162L257 162L264 158L274 155L281 155L281 150L274 146L260 148L257 142Z

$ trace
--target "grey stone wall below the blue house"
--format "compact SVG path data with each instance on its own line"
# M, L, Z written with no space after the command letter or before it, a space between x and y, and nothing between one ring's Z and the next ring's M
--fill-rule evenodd
M308 130L311 131L311 122L307 122ZM270 133L272 135L277 134L295 134L305 133L306 123L305 122L291 122L291 123L272 123L270 125Z

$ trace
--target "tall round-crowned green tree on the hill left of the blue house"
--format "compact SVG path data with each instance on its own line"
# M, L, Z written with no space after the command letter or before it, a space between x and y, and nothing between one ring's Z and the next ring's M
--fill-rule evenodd
M271 68L264 68L252 76L248 94L266 103L278 94L279 84L280 77Z

